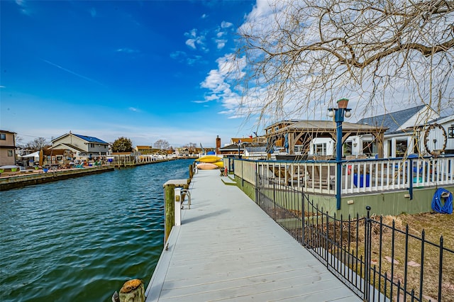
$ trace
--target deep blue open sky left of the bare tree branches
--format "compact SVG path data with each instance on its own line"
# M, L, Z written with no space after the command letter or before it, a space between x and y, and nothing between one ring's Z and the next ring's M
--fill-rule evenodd
M1 1L1 130L214 147L252 135L218 60L255 1ZM225 91L221 92L224 94ZM233 97L234 99L234 97ZM259 133L260 134L260 133Z

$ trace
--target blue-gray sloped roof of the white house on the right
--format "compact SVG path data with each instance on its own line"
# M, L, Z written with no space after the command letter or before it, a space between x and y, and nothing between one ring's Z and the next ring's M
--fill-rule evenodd
M388 128L387 133L396 132L401 125L409 120L416 113L421 111L426 105L420 105L401 111L385 113L380 116L371 116L370 118L361 118L358 124L376 125Z

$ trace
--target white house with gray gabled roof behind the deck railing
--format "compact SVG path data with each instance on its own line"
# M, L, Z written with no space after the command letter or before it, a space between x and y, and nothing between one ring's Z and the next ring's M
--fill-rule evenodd
M454 116L441 118L427 105L362 118L358 123L387 128L384 157L454 153ZM352 136L346 143L353 155L377 153L377 142L371 135Z

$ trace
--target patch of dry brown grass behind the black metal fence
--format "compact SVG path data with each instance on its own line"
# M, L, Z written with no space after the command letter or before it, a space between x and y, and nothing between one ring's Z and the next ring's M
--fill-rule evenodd
M380 220L380 217L372 217L372 219L377 221ZM439 245L440 238L443 236L441 293L443 301L454 301L454 215L439 213L402 214L400 216L384 216L382 219L381 232L380 223L372 223L372 266L376 265L378 269L381 262L380 273L382 276L387 276L388 281L392 279L394 284L400 282L400 286L402 288L406 286L406 290L410 293L411 289L414 289L414 295L417 298L420 295L422 274L422 300L436 301L440 272L441 249ZM385 226L392 226L393 220L394 230ZM408 225L408 236L406 235L406 225ZM423 233L425 242L421 240ZM361 255L364 257L364 224L358 228L358 237L360 239L358 257ZM353 247L355 247L354 244ZM391 262L394 262L394 265ZM405 266L405 263L411 265ZM378 279L376 285L378 285ZM381 287L383 290L383 286ZM389 295L389 284L387 294ZM402 293L400 294L402 295ZM397 300L396 289L393 291L393 299ZM403 296L399 297L399 301L404 301Z

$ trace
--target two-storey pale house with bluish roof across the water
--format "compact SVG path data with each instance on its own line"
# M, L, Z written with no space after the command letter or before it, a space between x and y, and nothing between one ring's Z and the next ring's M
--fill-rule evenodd
M109 152L108 142L71 132L55 138L51 142L50 150L70 150L73 157L96 157L97 155L107 155Z

